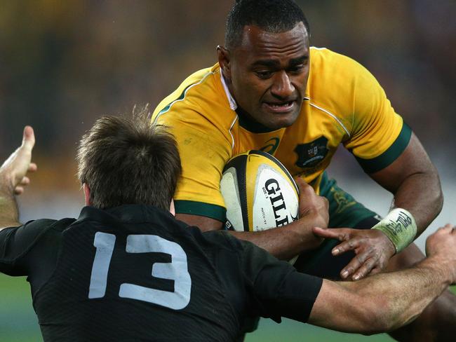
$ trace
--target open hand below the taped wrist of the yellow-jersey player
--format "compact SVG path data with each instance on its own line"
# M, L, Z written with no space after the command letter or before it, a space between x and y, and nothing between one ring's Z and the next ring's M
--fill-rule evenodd
M360 280L366 275L379 273L396 253L393 242L377 229L316 227L314 234L343 241L333 248L333 255L339 255L349 250L356 253L356 257L351 259L349 264L340 271L342 279Z

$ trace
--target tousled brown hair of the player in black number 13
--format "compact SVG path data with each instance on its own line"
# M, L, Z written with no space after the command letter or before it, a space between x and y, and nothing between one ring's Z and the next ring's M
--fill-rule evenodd
M105 209L145 204L169 210L182 167L173 135L150 125L147 107L127 116L103 116L83 135L78 177L90 202Z

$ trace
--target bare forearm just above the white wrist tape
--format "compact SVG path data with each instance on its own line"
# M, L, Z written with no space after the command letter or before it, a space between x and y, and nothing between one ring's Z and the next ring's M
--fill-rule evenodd
M408 210L417 224L419 236L443 206L440 180L434 167L429 172L410 175L394 193L394 207Z

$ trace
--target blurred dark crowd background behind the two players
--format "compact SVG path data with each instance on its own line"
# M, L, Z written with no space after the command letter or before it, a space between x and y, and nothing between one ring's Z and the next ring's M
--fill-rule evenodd
M456 1L297 2L311 45L353 57L380 81L441 172L453 214ZM0 0L0 158L20 144L24 125L37 137L39 172L21 200L23 218L79 213L74 151L81 134L102 114L128 113L134 104L154 109L186 76L214 64L232 4ZM377 206L387 212L389 195L375 188L373 196L349 153L337 153L331 172L361 200L384 200Z

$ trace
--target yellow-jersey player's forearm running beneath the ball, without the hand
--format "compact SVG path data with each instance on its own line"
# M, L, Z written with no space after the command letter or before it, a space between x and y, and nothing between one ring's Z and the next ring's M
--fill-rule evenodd
M323 239L311 231L312 227L321 225L320 221L317 213L311 213L291 224L267 231L230 233L236 238L253 242L266 249L278 259L290 260L297 254L315 249L321 244Z

